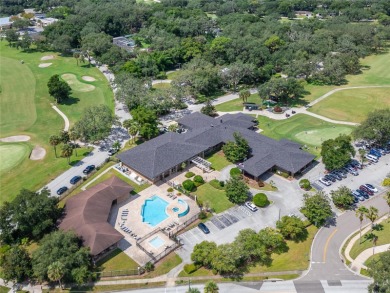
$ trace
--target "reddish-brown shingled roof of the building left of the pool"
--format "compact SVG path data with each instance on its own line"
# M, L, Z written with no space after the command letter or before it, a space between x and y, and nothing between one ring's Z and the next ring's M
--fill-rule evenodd
M133 188L116 176L99 183L66 202L60 228L73 230L97 255L123 238L108 222L112 202L129 195Z

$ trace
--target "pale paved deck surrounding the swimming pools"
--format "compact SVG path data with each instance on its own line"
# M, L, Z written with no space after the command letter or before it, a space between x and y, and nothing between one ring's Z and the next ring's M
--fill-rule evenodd
M184 176L187 171L188 170L183 173L175 174L176 176L172 176L172 178L169 178L169 180L175 183L182 183L185 179L187 179ZM219 172L203 174L202 171L196 167L190 168L190 171L194 172L195 174L202 175L206 181L210 181L215 177L218 177L219 175L217 174ZM125 237L119 242L119 248L122 249L129 257L131 257L134 261L136 261L142 266L145 265L145 263L147 263L148 261L150 261L150 257L136 246L136 239L130 234L124 232L121 229L121 225L124 225L125 227L129 228L132 233L135 233L137 235L137 238L143 238L146 234L158 228L163 229L171 225L176 226L177 224L182 224L200 211L198 205L195 203L194 200L190 199L185 195L177 195L177 190L172 192L174 196L176 196L176 198L169 197L170 193L167 191L169 187L170 186L167 183L158 182L155 185L152 185L149 188L141 191L139 194L132 195L127 201L122 202L117 206L113 207L113 210L111 212L110 223ZM168 207L166 209L168 213L168 218L163 220L156 226L152 227L149 224L142 222L141 210L145 200L154 195L157 195L166 202L168 202ZM185 201L189 206L188 214L182 217L178 217L178 214L180 214L185 209L185 206L178 202L179 199ZM172 209L174 207L178 207L179 211L173 212ZM128 210L128 215L122 218L122 212L125 210ZM161 237L161 239L164 240L164 244L158 248L155 248L149 243L149 241L156 236L159 236ZM148 238L150 239L142 239L142 246L154 255L163 252L166 248L169 248L169 246L174 244L174 242L170 240L161 231L149 236Z

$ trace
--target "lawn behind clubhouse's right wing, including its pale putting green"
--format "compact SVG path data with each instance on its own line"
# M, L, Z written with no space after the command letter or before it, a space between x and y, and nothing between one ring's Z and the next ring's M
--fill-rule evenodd
M296 114L284 120L259 116L258 120L258 127L263 130L261 134L277 140L286 138L306 144L308 151L315 155L319 155L324 140L339 134L350 134L353 130L353 126L333 124L305 114Z

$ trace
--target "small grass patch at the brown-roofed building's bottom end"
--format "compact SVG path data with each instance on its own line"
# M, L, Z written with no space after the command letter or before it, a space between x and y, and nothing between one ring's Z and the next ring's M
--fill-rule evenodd
M116 248L109 255L105 256L97 263L97 271L109 272L120 270L137 270L139 264L131 259L126 253Z

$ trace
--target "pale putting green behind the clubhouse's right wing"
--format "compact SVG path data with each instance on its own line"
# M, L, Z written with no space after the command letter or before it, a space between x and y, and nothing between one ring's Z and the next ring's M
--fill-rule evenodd
M334 139L340 134L351 134L351 132L352 129L350 127L335 125L333 127L298 132L294 137L302 143L321 146L325 140Z

